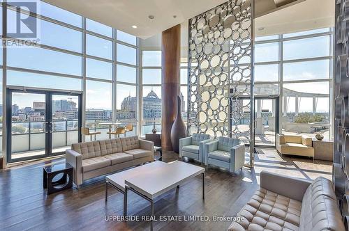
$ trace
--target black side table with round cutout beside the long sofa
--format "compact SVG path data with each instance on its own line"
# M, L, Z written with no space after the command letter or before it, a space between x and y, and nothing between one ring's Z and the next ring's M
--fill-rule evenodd
M63 173L61 179L52 181L59 173ZM43 168L43 188L47 189L47 195L73 187L73 167L66 164L54 164Z

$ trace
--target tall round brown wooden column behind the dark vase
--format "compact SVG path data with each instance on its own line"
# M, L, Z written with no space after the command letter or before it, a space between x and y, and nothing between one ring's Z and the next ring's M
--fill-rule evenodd
M171 127L177 113L177 95L180 93L179 65L181 56L181 25L173 26L162 33L162 122L161 145L163 150L172 150Z

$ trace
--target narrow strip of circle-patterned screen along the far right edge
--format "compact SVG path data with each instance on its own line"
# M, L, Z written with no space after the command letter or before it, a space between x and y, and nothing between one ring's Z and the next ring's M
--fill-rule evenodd
M342 214L349 213L349 4L336 0L336 65L334 75L334 159L333 177L336 195L343 202Z

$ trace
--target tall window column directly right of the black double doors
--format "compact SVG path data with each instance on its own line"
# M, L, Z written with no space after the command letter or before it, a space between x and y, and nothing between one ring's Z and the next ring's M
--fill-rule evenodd
M85 122L89 129L101 132L97 139L105 139L108 137L108 126L100 123L112 121L113 29L91 19L84 20L86 31L84 34L86 41Z

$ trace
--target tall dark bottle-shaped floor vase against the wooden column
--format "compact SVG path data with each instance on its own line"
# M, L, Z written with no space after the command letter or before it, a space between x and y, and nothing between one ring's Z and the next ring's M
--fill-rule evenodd
M179 153L179 139L186 137L186 125L181 118L181 98L177 95L177 116L171 128L171 143L174 152Z

